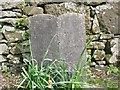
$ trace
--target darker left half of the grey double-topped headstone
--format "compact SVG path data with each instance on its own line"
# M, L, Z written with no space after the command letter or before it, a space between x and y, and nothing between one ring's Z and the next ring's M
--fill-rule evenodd
M30 34L31 34L31 47L33 57L40 64L45 52L52 40L53 36L57 33L57 17L53 15L36 15L30 18ZM57 58L58 45L57 42L52 41L48 55L46 58Z

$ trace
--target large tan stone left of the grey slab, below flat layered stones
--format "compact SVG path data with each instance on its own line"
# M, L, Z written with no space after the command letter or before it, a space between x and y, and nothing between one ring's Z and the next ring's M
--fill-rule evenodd
M22 33L18 32L18 31L5 31L4 35L5 35L5 38L9 42L15 42L15 41L18 41L18 40L23 40Z

